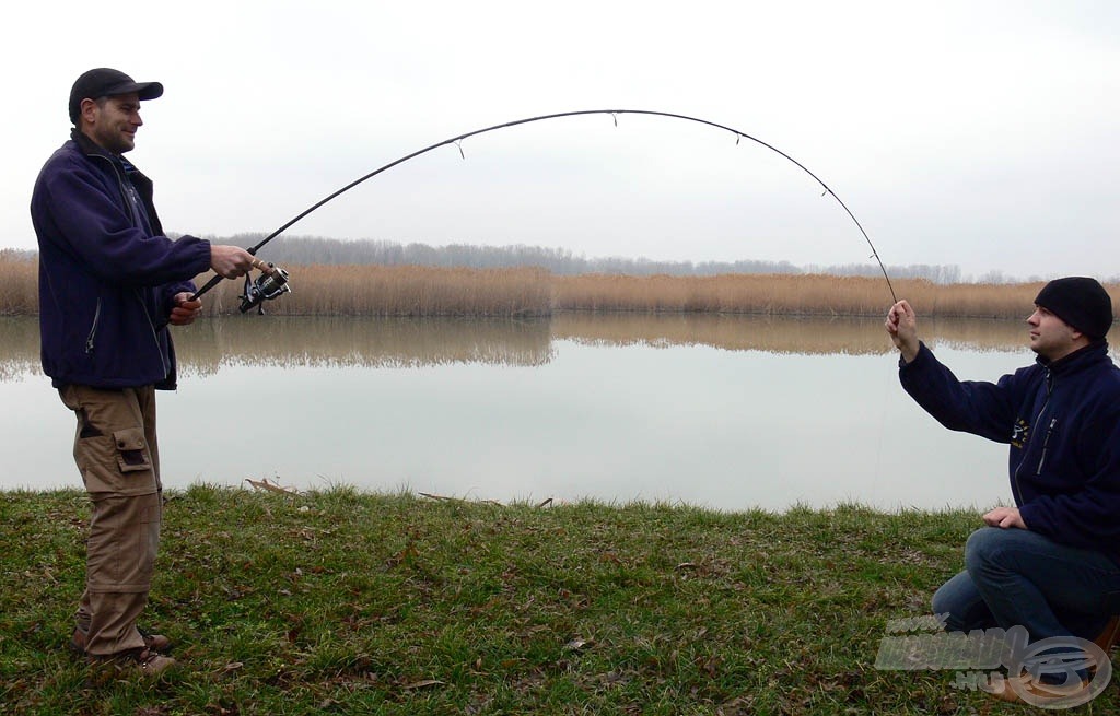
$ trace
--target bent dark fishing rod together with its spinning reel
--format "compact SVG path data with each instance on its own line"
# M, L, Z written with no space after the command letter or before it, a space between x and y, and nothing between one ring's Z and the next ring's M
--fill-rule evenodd
M824 181L821 180L820 177L818 177L815 173L813 173L812 171L810 171L810 169L808 167L805 167L804 164L802 164L800 161L797 161L796 159L794 159L790 154L786 154L781 149L774 147L773 144L768 144L767 142L764 142L763 140L760 140L760 139L758 139L756 136L752 136L750 134L747 134L746 132L741 132L739 130L732 129L732 128L727 126L725 124L719 124L718 122L711 122L709 120L701 120L699 117L689 116L687 114L675 114L673 112L657 112L657 111L652 111L652 110L580 110L580 111L576 111L576 112L558 112L556 114L542 114L542 115L539 115L539 116L531 116L531 117L526 117L526 119L523 119L523 120L514 120L512 122L504 122L502 124L495 124L493 126L487 126L485 129L475 130L473 132L467 132L466 134L458 134L456 136L451 136L449 139L445 139L441 142L436 142L435 144L431 144L429 147L424 147L423 149L414 151L411 154L405 154L404 157L401 157L400 159L391 161L391 162L389 162L388 164L385 164L383 167L379 167L377 169L374 169L373 171L371 171L370 173L367 173L367 175L365 175L363 177L358 177L357 179L355 179L354 181L349 182L348 185L346 185L342 189L338 189L334 194L330 194L329 196L324 197L319 201L312 204L310 207L308 207L307 209L305 209L300 214L296 215L287 224L284 224L283 226L281 226L277 230L274 230L271 234L269 234L268 236L265 236L259 244L256 244L255 246L253 246L251 248L248 248L246 251L250 254L252 254L253 256L255 256L256 252L259 252L261 249L261 247L263 247L265 244L268 244L269 242L271 242L273 238L276 238L277 236L279 236L280 234L282 234L284 230L287 230L288 228L290 228L293 224L296 224L297 222L299 222L300 219L302 219L304 217L306 217L308 214L310 214L310 213L315 211L316 209L318 209L319 207L321 207L324 204L327 204L328 201L330 201L330 200L339 197L340 195L346 194L347 191L349 191L354 187L358 186L360 183L362 183L362 182L364 182L364 181L366 181L368 179L373 179L377 175L380 175L380 173L382 173L384 171L388 171L388 170L392 169L393 167L395 167L398 164L402 164L402 163L409 161L410 159L416 159L417 157L420 157L421 154L427 154L428 152L430 152L432 150L436 150L436 149L439 149L440 147L447 147L448 144L455 144L459 149L459 156L463 157L463 159L466 159L467 157L466 157L466 154L463 151L463 144L461 144L463 140L465 140L465 139L468 139L468 138L472 138L472 136L477 136L479 134L486 134L487 132L495 132L497 130L504 130L504 129L507 129L507 128L511 128L511 126L517 126L520 124L529 124L531 122L543 122L545 120L557 120L557 119L560 119L560 117L581 116L581 115L588 115L588 114L609 114L615 120L615 126L618 126L618 115L619 114L638 114L638 115L646 115L646 116L659 116L659 117L669 117L669 119L674 119L674 120L684 120L687 122L696 122L698 124L704 124L707 126L713 126L716 129L724 130L726 132L730 132L731 134L735 134L735 143L736 143L736 145L738 145L738 143L739 143L740 140L747 139L747 140L750 140L752 142L755 142L756 144L759 144L760 147L765 147L766 149L768 149L768 150L771 150L773 152L776 152L777 154L784 157L788 161L793 162L799 169L801 169L806 175L809 175L810 177L812 177L816 181L816 183L821 185L821 188L824 189L824 191L823 191L823 194L821 194L821 196L831 195L832 198L836 199L837 202L840 205L840 207L843 208L844 213L848 214L848 216L851 218L851 220L856 224L856 228L858 228L859 233L862 234L864 241L866 241L867 245L871 248L871 256L870 257L875 258L875 261L878 263L879 271L883 272L883 277L887 282L887 289L890 291L890 298L893 299L893 301L895 303L898 302L898 299L895 295L895 288L890 283L890 276L887 275L887 267L885 265L883 265L883 260L879 258L879 252L875 248L875 244L871 243L870 236L868 236L867 232L864 230L864 226L859 223L859 219L857 219L856 215L851 213L851 209L848 208L848 205L846 205L840 199L840 197L837 196L836 191L833 191L827 183L824 183ZM286 272L283 268L274 266L273 264L264 264L263 262L255 262L253 265L255 267L258 267L258 268L261 268L262 270L262 274L261 274L261 276L254 283L250 283L249 276L246 275L246 277L245 277L245 294L243 296L241 296L241 299L242 299L241 311L242 312L248 311L249 309L253 308L254 305L259 305L262 301L277 299L280 295L282 295L284 292L291 290L290 286L288 285L288 272ZM194 296L192 296L192 300L197 299L198 296L203 295L204 293L206 293L207 291L209 291L211 289L213 289L215 285L217 285L221 282L222 282L222 276L215 275L202 289L199 289L197 292L195 292Z

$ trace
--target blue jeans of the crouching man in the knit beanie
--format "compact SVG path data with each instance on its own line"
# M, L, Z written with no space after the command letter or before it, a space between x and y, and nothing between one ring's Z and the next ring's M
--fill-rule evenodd
M933 595L949 631L1021 625L1035 642L1095 639L1116 609L1120 565L1027 529L983 527L964 545L967 569ZM1113 596L1114 599L1114 596Z

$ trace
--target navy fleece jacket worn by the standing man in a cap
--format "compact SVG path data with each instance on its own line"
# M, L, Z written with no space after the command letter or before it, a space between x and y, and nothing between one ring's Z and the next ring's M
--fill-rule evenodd
M174 296L209 268L209 243L164 236L152 183L76 130L31 195L43 370L56 387L175 387Z

